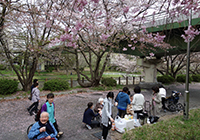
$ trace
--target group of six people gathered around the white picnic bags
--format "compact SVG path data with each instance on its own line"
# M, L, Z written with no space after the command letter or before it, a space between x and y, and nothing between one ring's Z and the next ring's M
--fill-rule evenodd
M165 107L165 98L166 98L166 90L161 85L152 87L152 98L151 98L151 112L154 116L158 115L161 108L164 110ZM137 119L139 118L139 114L143 113L145 98L141 93L141 88L136 86L134 88L135 94L130 94L130 91L127 87L124 87L122 91L120 91L116 98L114 106L118 108L118 115L121 118L124 118L125 114L133 115ZM109 92L105 99L99 98L98 103L96 104L93 111L93 103L89 102L87 104L87 108L83 114L83 123L85 123L86 128L92 129L95 126L102 125L102 139L105 140L108 134L108 130L111 128L112 122L114 119L112 118L112 100L114 99L114 93ZM96 119L94 119L96 118Z

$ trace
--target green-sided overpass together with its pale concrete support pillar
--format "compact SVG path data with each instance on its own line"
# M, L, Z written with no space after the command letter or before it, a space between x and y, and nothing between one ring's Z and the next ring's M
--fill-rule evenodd
M126 47L128 46L128 42L124 40L121 41L120 48L126 47L127 51L120 50L120 53L140 56L141 59L138 59L137 64L144 68L145 82L155 83L157 82L156 67L162 64L160 59L161 57L187 52L187 43L184 42L184 39L181 37L181 35L185 34L184 30L187 30L188 28L188 17L185 15L180 15L178 18L172 18L170 15L167 15L165 12L163 12L156 15L150 15L146 18L147 21L143 25L147 27L147 31L152 33L159 32L162 35L166 35L164 42L169 43L171 46L175 46L175 48L168 50L157 48L156 51L153 52L156 59L147 59L146 57L148 56L148 53L143 54L138 49L131 50L129 47ZM195 13L192 15L191 25L197 29L200 28L200 14ZM152 45L147 45L150 50L149 53L152 52ZM190 51L200 51L200 35L196 36L191 42Z

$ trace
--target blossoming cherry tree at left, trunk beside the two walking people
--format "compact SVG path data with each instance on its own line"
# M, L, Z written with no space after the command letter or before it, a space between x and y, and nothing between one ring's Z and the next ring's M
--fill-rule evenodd
M56 34L56 28L47 28L46 24L56 11L53 4L53 1L10 0L1 3L1 45L25 91L30 89L38 59L51 33ZM50 25L53 26L53 20Z

